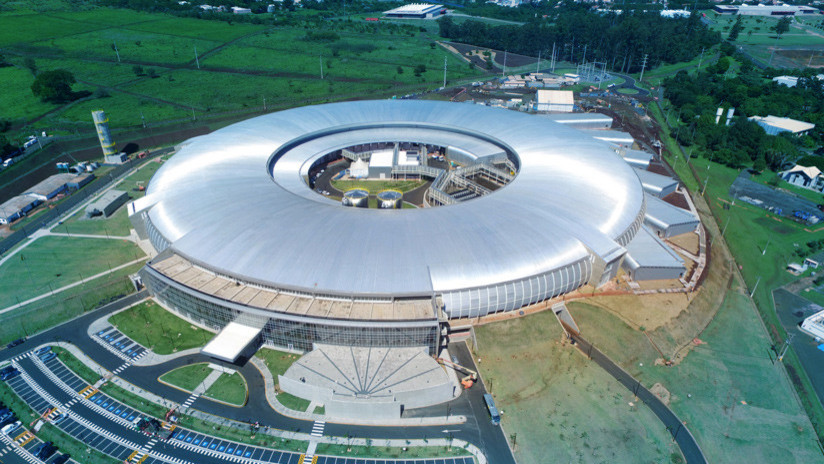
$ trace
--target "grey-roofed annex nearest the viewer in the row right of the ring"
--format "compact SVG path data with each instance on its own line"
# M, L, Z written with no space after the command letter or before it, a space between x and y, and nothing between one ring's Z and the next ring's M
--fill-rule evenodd
M623 268L635 281L678 279L687 270L684 260L646 226L627 245Z

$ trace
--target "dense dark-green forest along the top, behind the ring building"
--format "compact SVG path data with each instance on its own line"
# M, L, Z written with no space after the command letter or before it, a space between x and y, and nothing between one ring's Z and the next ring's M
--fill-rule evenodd
M548 57L553 44L558 59L580 63L602 61L609 69L637 72L644 55L647 69L689 61L721 40L698 15L664 18L657 12L599 13L591 7L565 4L554 21L534 18L521 26L493 26L450 17L438 20L441 37L523 55Z

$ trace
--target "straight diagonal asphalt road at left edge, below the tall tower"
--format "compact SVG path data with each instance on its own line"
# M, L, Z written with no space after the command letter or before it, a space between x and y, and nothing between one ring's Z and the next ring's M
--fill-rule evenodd
M171 153L172 151L173 148L164 148L162 150L152 152L147 158L144 159L130 159L126 163L114 168L105 177L102 177L99 180L87 185L83 189L74 192L68 198L55 205L54 208L41 214L20 230L9 235L3 239L3 241L0 241L0 256L3 256L3 254L9 251L12 247L28 238L29 235L36 232L43 226L56 222L61 216L77 207L77 205L83 203L93 195L99 193L101 190L112 185L115 181L120 180L133 168L146 162L147 160Z

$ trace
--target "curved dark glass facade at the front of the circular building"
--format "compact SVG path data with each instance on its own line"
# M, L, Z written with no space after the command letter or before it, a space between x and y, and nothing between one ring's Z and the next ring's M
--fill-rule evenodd
M421 321L383 322L276 313L202 294L174 284L149 268L143 268L141 276L152 295L166 307L215 331L223 329L242 312L265 315L268 322L262 337L267 345L300 351L311 351L315 342L344 346L427 346L430 354L438 352L439 324L434 317Z

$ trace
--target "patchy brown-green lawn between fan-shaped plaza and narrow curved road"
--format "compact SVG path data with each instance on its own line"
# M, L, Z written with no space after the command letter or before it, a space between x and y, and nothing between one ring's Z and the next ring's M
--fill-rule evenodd
M632 392L560 344L562 330L550 311L477 327L476 333L481 375L504 411L507 433L517 433L518 462L680 459L664 426Z

